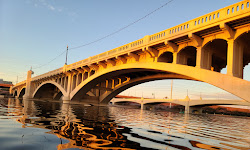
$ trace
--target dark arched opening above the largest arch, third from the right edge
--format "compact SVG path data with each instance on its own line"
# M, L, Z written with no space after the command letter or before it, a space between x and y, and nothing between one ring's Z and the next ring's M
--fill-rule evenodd
M187 46L177 54L177 63L187 66L196 66L196 47Z

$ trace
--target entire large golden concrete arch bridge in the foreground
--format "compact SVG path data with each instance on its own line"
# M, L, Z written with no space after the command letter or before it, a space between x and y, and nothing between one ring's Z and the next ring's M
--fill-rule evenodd
M243 69L250 62L249 0L14 85L25 99L104 105L120 92L149 81L209 83L250 102ZM227 68L227 73L220 71Z

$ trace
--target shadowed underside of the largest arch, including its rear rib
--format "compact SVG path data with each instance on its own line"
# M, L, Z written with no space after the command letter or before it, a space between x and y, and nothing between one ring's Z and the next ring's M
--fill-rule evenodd
M112 71L93 79L84 85L73 97L72 101L85 101L95 104L107 104L122 91L149 81L162 79L188 79L184 75L153 69L122 69Z

